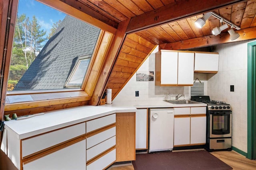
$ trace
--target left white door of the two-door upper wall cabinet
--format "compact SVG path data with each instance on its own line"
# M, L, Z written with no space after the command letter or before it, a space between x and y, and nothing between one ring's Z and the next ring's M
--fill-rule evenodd
M161 85L176 85L178 76L178 52L161 52Z

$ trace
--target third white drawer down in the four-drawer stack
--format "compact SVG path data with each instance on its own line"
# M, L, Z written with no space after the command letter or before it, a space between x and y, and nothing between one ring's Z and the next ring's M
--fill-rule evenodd
M86 161L94 158L95 156L101 154L102 152L110 149L116 145L116 136L107 139L106 141L99 143L98 145L95 145L94 147L91 147L90 149L86 150Z

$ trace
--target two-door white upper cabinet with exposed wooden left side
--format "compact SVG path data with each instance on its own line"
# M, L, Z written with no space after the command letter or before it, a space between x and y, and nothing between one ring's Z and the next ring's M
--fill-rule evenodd
M194 52L160 50L156 53L156 86L192 86Z

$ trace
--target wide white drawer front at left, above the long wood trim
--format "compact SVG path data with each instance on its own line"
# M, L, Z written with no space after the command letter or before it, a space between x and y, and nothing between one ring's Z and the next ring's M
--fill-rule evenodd
M78 125L22 140L22 158L40 150L68 141L74 137L83 135L86 132L85 128L85 123L80 123Z

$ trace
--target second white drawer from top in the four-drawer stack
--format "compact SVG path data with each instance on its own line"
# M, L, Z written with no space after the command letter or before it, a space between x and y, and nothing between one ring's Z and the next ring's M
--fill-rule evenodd
M115 135L116 135L116 127L112 127L106 131L103 131L103 132L97 133L93 136L90 136L87 138L86 149L89 149L103 141L106 141L107 139L109 139Z

